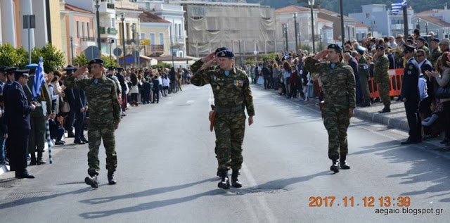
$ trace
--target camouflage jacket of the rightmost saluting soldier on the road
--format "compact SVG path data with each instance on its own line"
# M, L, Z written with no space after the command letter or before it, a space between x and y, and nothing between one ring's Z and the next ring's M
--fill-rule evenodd
M319 60L307 58L304 68L311 73L319 74L326 106L335 108L355 108L355 78L349 65L338 62L333 69L330 62L319 63Z

